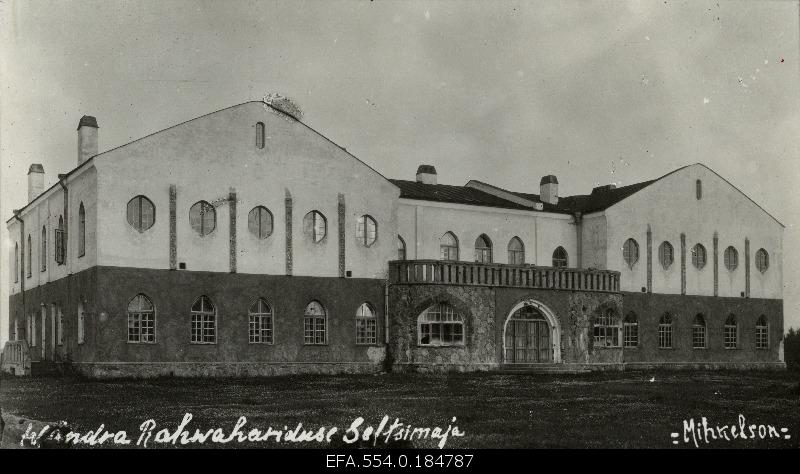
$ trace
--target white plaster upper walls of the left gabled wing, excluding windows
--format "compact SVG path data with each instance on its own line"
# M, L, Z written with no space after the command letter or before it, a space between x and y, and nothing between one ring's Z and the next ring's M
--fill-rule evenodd
M256 123L265 124L265 146L256 147ZM26 206L25 235L31 234L32 267L25 288L63 278L94 265L170 268L169 189L175 185L177 262L186 270L229 272L230 203L236 192L236 271L286 274L286 197L292 198L292 274L339 276L339 194L345 203L345 270L353 278L385 278L387 262L397 255L399 190L386 178L345 150L262 102L249 102L176 125L101 153L67 177L69 188L68 257L55 263L53 229L63 213L63 191L57 184ZM155 224L139 232L127 222L127 203L144 195L155 206ZM189 222L189 208L205 200L215 205L216 227L198 235ZM86 211L86 253L79 257L78 206ZM265 206L273 232L258 239L248 231L248 213ZM327 220L326 237L313 243L303 233L303 217L320 211ZM378 237L365 247L356 238L361 215L377 222ZM19 222L8 221L9 262ZM48 265L39 272L42 225L48 229ZM20 258L24 262L20 245ZM27 249L25 250L27 252ZM20 283L10 280L11 294Z

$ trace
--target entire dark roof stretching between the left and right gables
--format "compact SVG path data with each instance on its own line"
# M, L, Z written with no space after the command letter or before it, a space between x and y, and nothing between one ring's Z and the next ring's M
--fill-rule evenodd
M661 178L659 178L661 179ZM535 210L532 207L517 204L487 192L469 186L450 186L445 184L423 184L416 181L404 181L390 179L400 188L400 197L404 199L419 199L422 201L451 202L457 204L469 204L473 206L499 207L503 209L524 209L527 211ZM572 214L581 212L588 214L591 212L608 209L614 204L622 201L628 196L640 191L650 184L658 181L650 180L641 183L630 184L621 188L609 188L608 186L598 187L592 190L591 194L581 194L576 196L563 196L558 199L558 204L541 203L538 194L518 193L497 188L514 196L529 201L542 204L542 211L557 212L562 214ZM486 183L482 183L486 184Z

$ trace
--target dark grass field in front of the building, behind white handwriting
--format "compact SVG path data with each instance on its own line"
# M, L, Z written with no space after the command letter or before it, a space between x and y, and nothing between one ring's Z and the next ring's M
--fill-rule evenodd
M652 378L655 380L651 381ZM189 431L222 428L240 416L244 431L339 427L353 419L376 426L384 415L414 427L447 428L448 448L672 448L670 433L683 420L709 425L788 428L791 439L716 441L708 447L797 448L800 374L792 372L625 372L586 375L348 375L264 379L95 381L81 378L9 378L0 381L4 412L38 420L66 420L74 431L125 430L135 442L139 426L175 430L185 412ZM337 435L341 439L340 435ZM336 438L334 438L336 439ZM682 439L682 437L681 437ZM432 440L414 440L433 447ZM231 443L236 447L328 447L326 443ZM382 441L378 443L382 445ZM152 446L152 445L151 445ZM213 446L206 443L206 446ZM390 443L390 447L392 444ZM694 447L694 444L681 444Z

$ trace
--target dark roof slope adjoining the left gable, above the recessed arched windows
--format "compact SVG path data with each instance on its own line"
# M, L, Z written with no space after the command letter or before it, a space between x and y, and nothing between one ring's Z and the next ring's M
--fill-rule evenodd
M469 188L467 186L424 184L402 179L390 179L389 181L400 188L400 197L404 199L451 202L455 204L469 204L471 206L500 207L503 209L531 210L528 206L507 201L479 189Z

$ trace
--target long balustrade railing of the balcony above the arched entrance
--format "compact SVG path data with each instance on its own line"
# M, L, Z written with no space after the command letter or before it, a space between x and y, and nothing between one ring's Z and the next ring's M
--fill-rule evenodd
M619 272L448 260L389 262L397 284L505 286L551 290L619 291Z

